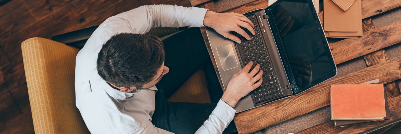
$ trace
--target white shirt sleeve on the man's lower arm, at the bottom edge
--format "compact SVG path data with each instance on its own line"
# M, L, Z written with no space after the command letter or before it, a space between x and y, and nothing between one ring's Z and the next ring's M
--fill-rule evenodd
M220 99L212 114L195 134L221 134L234 119L235 110Z

